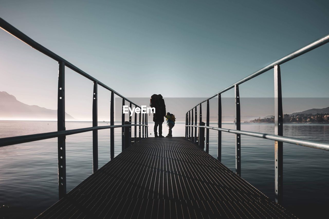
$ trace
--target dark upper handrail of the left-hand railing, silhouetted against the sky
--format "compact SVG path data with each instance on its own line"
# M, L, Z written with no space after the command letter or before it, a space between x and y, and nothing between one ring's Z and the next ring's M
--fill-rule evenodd
M26 43L27 45L31 46L32 48L38 50L39 52L45 54L46 56L48 56L50 58L52 58L53 60L58 61L58 62L64 62L65 63L65 66L67 66L68 68L72 69L73 71L81 74L82 76L88 78L89 80L91 80L93 82L97 82L98 85L104 87L105 89L108 89L110 91L113 91L119 97L125 99L126 101L128 101L129 103L132 103L133 105L138 106L137 104L133 103L132 101L128 100L127 98L125 98L124 96L122 96L121 94L119 94L118 92L116 92L114 89L112 89L109 86L107 86L107 85L103 84L102 82L98 81L97 79L95 79L94 77L90 76L89 74L87 74L86 72L84 72L83 70L81 70L80 68L78 68L75 65L71 64L70 62L66 61L65 59L63 59L62 57L60 57L56 53L50 51L49 49L47 49L46 47L42 46L41 44L37 43L36 41L34 41L33 39L31 39L30 37L26 36L24 33L22 33L21 31L19 31L17 28L15 28L13 25L11 25L10 23L8 23L7 21L5 21L4 19L2 19L1 17L0 17L0 28L3 29L4 31L8 32L9 34L13 35L17 39L21 40L22 42Z

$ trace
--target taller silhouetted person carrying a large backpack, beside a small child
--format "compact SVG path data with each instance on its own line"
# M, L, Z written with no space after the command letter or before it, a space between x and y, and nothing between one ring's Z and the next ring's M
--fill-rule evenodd
M161 94L153 94L150 99L150 106L155 108L155 113L153 113L154 122L154 137L164 137L162 135L162 123L164 122L164 116L166 113L164 99ZM159 136L158 136L158 126L159 126Z

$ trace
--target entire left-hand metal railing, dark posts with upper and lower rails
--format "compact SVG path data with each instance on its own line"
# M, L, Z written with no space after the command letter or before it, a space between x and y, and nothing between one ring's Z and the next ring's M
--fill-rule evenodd
M15 137L0 138L0 147L20 144L25 142L37 141L48 138L58 138L58 187L59 187L59 199L66 195L66 157L65 157L65 137L66 135L83 133L92 131L92 157L93 157L93 173L98 170L98 130L101 129L111 129L110 130L110 158L114 158L114 128L122 128L122 151L131 145L131 127L139 127L139 136L137 137L137 128L135 128L134 133L134 143L139 141L141 138L148 137L148 120L146 113L142 115L139 113L139 124L137 124L137 114L135 113L134 124L132 122L132 116L129 116L129 122L125 122L125 115L122 110L122 125L114 125L114 94L122 98L122 106L125 101L129 102L130 107L137 104L128 100L112 88L101 83L97 79L91 77L86 72L82 71L78 67L74 66L70 62L64 60L62 57L53 53L49 49L40 45L30 37L23 34L21 31L13 27L11 24L0 18L0 27L4 31L13 35L14 37L20 39L26 44L30 45L32 48L38 50L39 52L45 54L46 56L52 58L59 63L58 71L58 99L57 99L57 132L41 133L41 134L29 134ZM90 81L93 82L93 94L92 94L92 127L83 129L73 129L65 130L65 66L72 69L73 71L81 74ZM111 91L111 107L110 107L110 126L98 126L97 124L97 86L100 85L105 89ZM91 94L90 94L91 96ZM145 116L144 116L145 115ZM145 118L144 118L145 117ZM142 132L142 135L141 135ZM127 142L128 141L128 142Z

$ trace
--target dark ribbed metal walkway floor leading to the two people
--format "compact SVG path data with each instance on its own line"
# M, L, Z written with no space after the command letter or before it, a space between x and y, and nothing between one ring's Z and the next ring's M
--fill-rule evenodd
M293 218L184 137L145 138L38 218Z

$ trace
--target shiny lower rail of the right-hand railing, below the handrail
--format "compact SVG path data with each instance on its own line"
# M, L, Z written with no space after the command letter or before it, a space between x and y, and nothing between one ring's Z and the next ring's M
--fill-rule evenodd
M217 130L217 131L221 131L221 132L228 132L228 133L233 133L233 134L243 134L243 135L273 140L273 141L281 141L281 142L285 142L285 143L289 143L289 144L296 144L296 145L301 145L301 146L305 146L305 147L317 148L317 149L329 151L329 143L324 142L324 141L307 140L307 139L280 136L280 135L275 135L275 134L259 133L259 132L240 131L240 130L235 130L235 129L223 129L223 128L217 128L217 127L212 127L212 126L195 126L195 125L187 125L187 126L205 128L205 129L213 129L213 130Z

